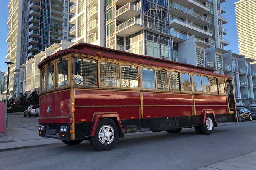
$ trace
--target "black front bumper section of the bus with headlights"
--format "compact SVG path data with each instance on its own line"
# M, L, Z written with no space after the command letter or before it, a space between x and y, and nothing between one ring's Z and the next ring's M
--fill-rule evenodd
M39 126L43 126L43 130L39 130L39 136L46 138L54 138L60 140L70 140L70 123L61 123L61 124L42 124L39 123ZM67 132L60 132L61 126L67 126ZM40 134L41 133L41 134ZM64 136L62 136L64 135Z

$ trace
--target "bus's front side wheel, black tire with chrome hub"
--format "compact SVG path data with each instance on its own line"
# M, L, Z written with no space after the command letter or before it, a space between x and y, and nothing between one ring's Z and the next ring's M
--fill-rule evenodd
M99 134L101 134L101 136ZM105 118L99 120L95 135L90 136L89 140L91 145L99 151L108 151L116 146L118 138L119 128L116 122L112 119Z

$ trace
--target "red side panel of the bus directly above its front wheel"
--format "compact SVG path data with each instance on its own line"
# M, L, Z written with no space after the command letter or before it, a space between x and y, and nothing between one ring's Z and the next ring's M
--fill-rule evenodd
M117 112L120 119L139 119L139 104L140 93L136 92L75 90L75 122L92 121L96 112Z

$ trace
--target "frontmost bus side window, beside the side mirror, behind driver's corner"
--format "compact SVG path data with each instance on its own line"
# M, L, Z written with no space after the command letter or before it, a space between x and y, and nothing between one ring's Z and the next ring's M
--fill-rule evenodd
M74 59L75 84L98 86L97 62L90 59Z

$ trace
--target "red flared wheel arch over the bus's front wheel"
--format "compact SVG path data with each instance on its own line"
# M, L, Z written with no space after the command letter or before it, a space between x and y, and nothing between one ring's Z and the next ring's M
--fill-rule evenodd
M89 136L95 136L95 132L98 126L98 122L101 119L109 118L116 122L117 127L119 129L119 138L124 138L124 131L121 125L121 121L119 118L119 114L117 112L97 112L93 114L93 119L91 123L91 129Z

